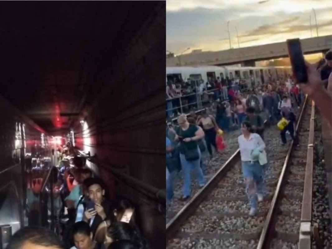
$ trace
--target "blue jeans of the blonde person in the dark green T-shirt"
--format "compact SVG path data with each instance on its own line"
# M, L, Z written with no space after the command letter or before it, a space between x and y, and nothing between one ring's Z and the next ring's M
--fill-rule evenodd
M181 166L182 166L182 172L183 172L183 197L190 196L190 186L191 186L191 171L195 170L196 177L198 180L198 183L200 187L205 185L205 178L203 175L203 171L201 168L201 151L197 147L198 152L200 154L200 158L195 161L187 161L184 154L180 153L180 160L181 160Z

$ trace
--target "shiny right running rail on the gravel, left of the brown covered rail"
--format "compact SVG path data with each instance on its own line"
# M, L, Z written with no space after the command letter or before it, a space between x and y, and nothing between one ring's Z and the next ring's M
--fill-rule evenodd
M296 124L296 128L295 128L296 135L297 135L297 132L298 132L298 129L299 129L299 126L300 126L300 121L303 117L303 113L304 113L305 107L307 105L307 102L308 102L308 95L305 96L305 100L304 100L304 103L302 105L301 113L299 115L299 119L298 119L297 124ZM290 147L287 151L287 155L286 155L286 158L285 158L285 161L284 161L282 171L280 173L278 184L277 184L274 196L272 198L270 209L269 209L269 212L267 214L267 218L265 219L265 224L264 224L264 227L262 229L261 236L259 238L258 245L257 245L256 249L263 249L264 246L267 243L267 234L268 234L268 231L271 228L270 227L271 220L272 220L273 213L275 212L275 209L276 209L276 206L277 206L276 205L277 204L277 199L279 197L279 193L281 192L282 182L284 180L284 175L286 173L287 165L288 165L288 162L290 160L290 153L292 151L293 144L294 144L294 141L292 140L291 144L290 144Z

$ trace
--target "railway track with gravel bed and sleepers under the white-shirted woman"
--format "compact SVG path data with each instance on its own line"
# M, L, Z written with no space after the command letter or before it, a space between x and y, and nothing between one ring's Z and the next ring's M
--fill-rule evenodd
M276 128L267 129L266 195L259 203L257 216L248 215L240 155L236 151L167 223L167 248L297 248L300 230L305 234L305 221L311 220L313 148L308 148L308 140L313 110L308 104L301 109L296 127L298 147L292 142L281 146ZM311 165L307 165L310 160ZM306 171L309 173L305 179ZM305 239L302 236L300 243Z

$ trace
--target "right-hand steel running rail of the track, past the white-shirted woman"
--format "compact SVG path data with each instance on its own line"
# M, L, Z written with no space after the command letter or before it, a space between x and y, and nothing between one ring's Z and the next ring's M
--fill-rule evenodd
M297 135L297 132L299 130L300 122L301 122L301 119L303 117L304 110L305 110L305 107L307 105L307 102L308 102L308 96L306 95L305 100L304 100L304 104L303 104L302 109L301 109L300 116L299 116L297 124L296 124L296 129L295 129L296 135ZM269 212L267 214L267 218L265 220L265 224L264 224L263 230L261 232L261 236L259 238L257 249L269 248L269 242L271 240L271 237L274 234L274 231L273 231L274 228L273 228L273 225L272 225L275 222L275 220L274 220L275 215L274 214L275 214L275 212L277 212L277 202L278 202L278 199L280 197L282 184L285 180L284 176L285 176L285 173L286 173L286 170L287 170L287 166L289 164L290 153L293 149L293 145L294 145L294 141L291 141L291 144L290 144L290 147L287 151L286 159L285 159L285 162L284 162L284 165L283 165L283 168L282 168L279 180L278 180L278 184L277 184L277 187L276 187L276 190L275 190L272 202L271 202L271 207L270 207Z

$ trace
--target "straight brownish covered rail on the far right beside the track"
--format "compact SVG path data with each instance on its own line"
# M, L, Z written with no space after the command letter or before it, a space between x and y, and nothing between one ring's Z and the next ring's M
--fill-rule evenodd
M311 117L305 166L304 189L302 198L301 224L299 233L299 249L311 248L311 213L312 213L312 176L313 176L313 145L315 132L315 103L311 104Z

